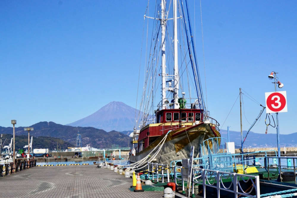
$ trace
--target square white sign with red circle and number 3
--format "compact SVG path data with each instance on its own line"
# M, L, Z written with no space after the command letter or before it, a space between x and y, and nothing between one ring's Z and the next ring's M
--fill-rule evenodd
M287 92L276 91L266 92L266 113L280 113L287 112Z

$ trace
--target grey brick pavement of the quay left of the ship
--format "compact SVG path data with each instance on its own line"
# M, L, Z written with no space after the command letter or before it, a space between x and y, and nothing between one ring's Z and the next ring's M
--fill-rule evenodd
M95 165L34 167L0 178L0 197L163 197L131 192L131 178Z

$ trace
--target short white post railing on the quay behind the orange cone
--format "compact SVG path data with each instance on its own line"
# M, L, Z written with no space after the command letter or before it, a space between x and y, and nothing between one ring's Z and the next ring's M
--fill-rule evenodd
M153 181L156 178L159 182L159 178L162 178L162 183L164 183L164 178L167 178L167 182L170 182L168 165L148 162L148 177L150 176Z

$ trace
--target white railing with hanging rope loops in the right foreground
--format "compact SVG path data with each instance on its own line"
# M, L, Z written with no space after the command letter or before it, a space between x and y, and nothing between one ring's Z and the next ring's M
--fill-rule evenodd
M247 178L247 179L245 179ZM225 186L222 180L231 179L230 186ZM254 180L255 179L255 182ZM248 189L242 189L240 180L247 183L249 180L252 185ZM243 195L245 197L260 198L259 176L243 175L232 172L214 171L200 168L193 168L192 172L192 193L194 193L194 183L203 185L203 197L206 197L206 186L217 189L217 197L220 197L220 191L234 193L234 196ZM233 186L233 188L232 188ZM240 190L239 190L240 189ZM255 189L255 195L252 191Z

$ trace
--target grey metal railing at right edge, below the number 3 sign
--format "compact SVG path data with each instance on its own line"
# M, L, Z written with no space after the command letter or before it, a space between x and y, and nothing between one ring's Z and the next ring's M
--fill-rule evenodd
M283 165L282 165L283 164ZM295 178L296 183L296 172L297 169L297 158L296 157L265 157L264 159L264 168L268 172L268 180L271 178L269 177L270 174L275 174L276 172L281 174L279 177L280 181L283 180L283 175L293 176ZM288 174L288 172L292 172Z

